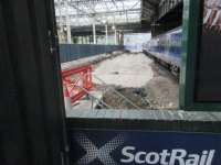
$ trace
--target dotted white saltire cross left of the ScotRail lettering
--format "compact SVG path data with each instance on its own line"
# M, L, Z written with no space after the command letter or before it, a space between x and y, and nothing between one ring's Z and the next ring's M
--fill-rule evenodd
M96 158L104 165L117 165L117 163L112 158L110 153L124 143L125 140L122 134L117 135L99 148L83 133L76 134L75 138L77 143L86 152L86 155L77 161L78 165L87 165Z

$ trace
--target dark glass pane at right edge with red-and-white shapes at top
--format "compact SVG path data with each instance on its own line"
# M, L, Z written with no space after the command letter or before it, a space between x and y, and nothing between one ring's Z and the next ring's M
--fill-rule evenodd
M204 0L202 8L196 99L221 101L221 0Z

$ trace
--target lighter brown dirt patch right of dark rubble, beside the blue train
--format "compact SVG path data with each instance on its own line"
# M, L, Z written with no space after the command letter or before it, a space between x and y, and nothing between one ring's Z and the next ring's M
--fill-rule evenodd
M166 68L151 64L154 78L145 86L152 109L177 110L179 107L179 82Z

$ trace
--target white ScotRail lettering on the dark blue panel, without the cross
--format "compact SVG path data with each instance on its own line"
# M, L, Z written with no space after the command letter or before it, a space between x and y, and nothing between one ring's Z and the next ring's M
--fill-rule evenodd
M125 146L122 154L125 164L148 164L148 165L211 165L215 151L202 151L201 154L188 154L183 148L176 148L169 152L145 152L137 151L135 146Z

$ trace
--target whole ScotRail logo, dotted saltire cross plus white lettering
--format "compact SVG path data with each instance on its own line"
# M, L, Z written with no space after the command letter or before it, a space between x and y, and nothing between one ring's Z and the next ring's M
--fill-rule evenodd
M85 150L86 154L77 161L78 165L87 165L98 160L104 165L120 164L144 164L144 165L212 165L215 150L204 150L196 153L188 153L185 148L162 150L161 152L139 151L136 146L123 146L124 135L117 135L102 147L97 147L85 134L76 135L77 143ZM115 158L110 153L120 147L120 153ZM118 151L118 150L117 150ZM115 154L116 155L116 154Z

